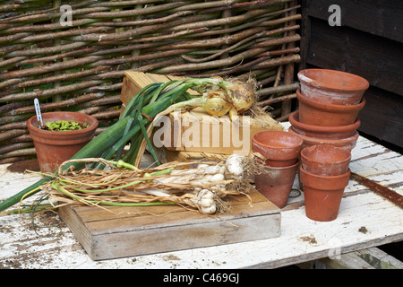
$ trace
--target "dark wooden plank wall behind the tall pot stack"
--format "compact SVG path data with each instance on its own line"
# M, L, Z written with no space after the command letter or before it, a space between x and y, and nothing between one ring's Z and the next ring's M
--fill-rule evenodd
M362 135L403 147L403 1L302 0L300 69L358 74L371 84L359 117ZM338 4L341 26L328 12Z

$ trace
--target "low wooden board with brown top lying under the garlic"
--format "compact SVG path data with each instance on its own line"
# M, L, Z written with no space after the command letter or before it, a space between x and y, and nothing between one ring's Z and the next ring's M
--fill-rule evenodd
M92 260L279 237L279 208L254 190L228 197L231 210L205 215L176 205L64 206L59 215Z

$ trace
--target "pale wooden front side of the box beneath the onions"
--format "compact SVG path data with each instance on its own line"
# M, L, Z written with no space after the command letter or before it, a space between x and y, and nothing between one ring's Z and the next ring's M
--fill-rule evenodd
M169 115L171 126L162 126L168 135L163 143L167 150L207 152L215 154L252 153L252 137L264 130L283 130L271 117L244 117L231 121L229 117L211 117L202 108ZM159 137L157 137L158 139Z

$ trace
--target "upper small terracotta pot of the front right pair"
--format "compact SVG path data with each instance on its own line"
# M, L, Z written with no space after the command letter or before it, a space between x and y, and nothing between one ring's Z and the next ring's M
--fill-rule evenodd
M301 151L302 168L319 176L339 176L348 170L351 152L329 144L306 147Z

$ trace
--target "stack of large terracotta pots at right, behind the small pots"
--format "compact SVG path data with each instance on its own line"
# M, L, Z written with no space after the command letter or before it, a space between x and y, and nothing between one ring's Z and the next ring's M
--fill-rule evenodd
M296 91L299 110L289 117L289 132L304 140L304 147L331 144L351 151L360 126L358 113L364 108L364 78L327 69L298 73L301 89Z

